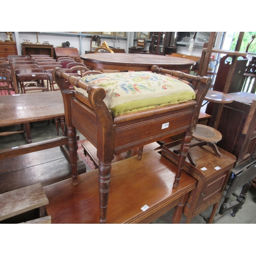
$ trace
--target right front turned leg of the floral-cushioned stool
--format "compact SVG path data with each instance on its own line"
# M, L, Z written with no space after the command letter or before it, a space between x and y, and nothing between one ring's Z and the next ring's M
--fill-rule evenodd
M187 157L187 152L189 150L190 142L192 139L193 133L191 132L186 132L183 136L182 143L180 146L180 155L179 155L179 160L178 160L178 170L175 175L175 181L174 181L174 188L177 188L180 182L180 176L183 170L183 166Z

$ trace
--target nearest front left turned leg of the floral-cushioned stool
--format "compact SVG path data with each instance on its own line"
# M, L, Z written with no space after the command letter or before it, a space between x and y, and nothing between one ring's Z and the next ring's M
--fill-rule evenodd
M108 209L109 190L111 180L111 162L101 162L99 160L99 221L106 222L106 211Z

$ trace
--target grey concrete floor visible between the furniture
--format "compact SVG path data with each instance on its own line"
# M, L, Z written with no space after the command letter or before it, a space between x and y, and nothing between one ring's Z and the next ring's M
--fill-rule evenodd
M17 127L15 126L7 126L7 127L2 127L1 132L4 131L16 131ZM45 139L51 139L55 138L56 135L56 130L55 130L55 124L50 122L48 124L48 121L41 121L41 122L35 122L33 123L33 126L31 127L31 133L32 133L32 141L33 142L38 142L42 141ZM61 131L60 131L61 134ZM84 139L84 136L82 136L79 132L77 135L80 136L80 140ZM61 135L59 135L61 136ZM5 137L0 137L0 149L4 148L9 148L13 146L18 146L18 145L25 145L26 141L23 138L22 135L16 134L16 135L10 135L10 136L5 136ZM236 194L240 194L241 189L238 189L236 191ZM224 192L225 194L225 192ZM253 202L253 198L256 197L255 194L253 194L250 190L248 191L247 194L247 199L242 206L242 208L238 211L237 215L235 217L231 216L232 211L226 212L221 218L219 216L216 216L216 218L219 218L214 221L215 224L256 224L256 203ZM236 200L236 197L231 196L230 197L230 202ZM223 201L223 200L222 200ZM221 203L222 203L221 201ZM221 204L220 204L221 205ZM219 207L220 207L219 205ZM202 214L196 216L191 223L193 224L204 224L205 221L202 216L208 217L211 212L211 207L204 211ZM219 210L217 210L218 212ZM174 213L174 209L166 212L163 216L160 218L156 219L152 223L154 224L170 224L172 223L172 216ZM202 216L201 216L202 215ZM215 218L215 219L216 219ZM181 223L185 223L186 217L183 215L181 219Z

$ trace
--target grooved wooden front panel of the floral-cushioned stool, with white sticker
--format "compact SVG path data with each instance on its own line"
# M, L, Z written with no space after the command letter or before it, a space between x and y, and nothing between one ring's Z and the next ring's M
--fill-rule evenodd
M194 108L172 111L116 124L115 153L161 140L189 130Z

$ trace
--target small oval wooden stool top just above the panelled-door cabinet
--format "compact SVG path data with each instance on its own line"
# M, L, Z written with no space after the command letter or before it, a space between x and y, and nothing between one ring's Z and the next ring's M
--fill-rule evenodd
M193 137L200 141L217 143L221 140L222 134L210 126L197 124Z

